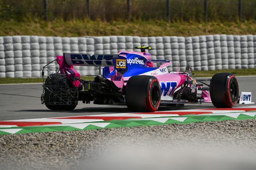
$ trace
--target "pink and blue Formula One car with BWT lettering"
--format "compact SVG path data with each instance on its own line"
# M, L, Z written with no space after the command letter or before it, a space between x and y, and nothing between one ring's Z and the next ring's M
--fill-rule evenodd
M192 77L191 67L185 72L169 72L167 67L171 61L151 59L151 54L146 52L150 47L136 48L141 52L119 51L115 55L92 56L64 53L57 56L54 61L59 68L44 79L42 103L51 110L73 110L78 101L126 104L129 110L141 112L156 111L159 105L183 106L188 102L212 102L217 108L237 104L238 82L231 73L201 79ZM73 66L99 67L99 75L94 81L83 80ZM43 68L43 77L45 70L50 68L50 63Z

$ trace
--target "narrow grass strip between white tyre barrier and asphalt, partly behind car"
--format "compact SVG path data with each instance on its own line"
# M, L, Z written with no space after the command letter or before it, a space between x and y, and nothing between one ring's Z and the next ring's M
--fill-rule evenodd
M256 75L256 68L249 69L227 69L213 71L193 71L194 77L211 77L216 73L229 72L235 76L253 76ZM83 76L82 79L94 80L94 76ZM42 78L0 78L0 84L17 84L17 83L42 83Z

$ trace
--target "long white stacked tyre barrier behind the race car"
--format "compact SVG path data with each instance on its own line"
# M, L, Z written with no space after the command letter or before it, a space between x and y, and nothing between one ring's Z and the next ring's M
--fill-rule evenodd
M46 63L64 52L116 54L151 46L152 59L172 61L168 67L183 71L256 68L256 35L100 36L100 37L0 37L0 77L40 77ZM98 68L75 66L81 75L97 75ZM52 71L54 72L54 68Z

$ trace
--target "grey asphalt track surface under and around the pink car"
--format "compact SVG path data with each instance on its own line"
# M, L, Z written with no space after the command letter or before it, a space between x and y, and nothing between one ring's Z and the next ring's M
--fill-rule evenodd
M256 102L256 76L237 77L239 92L252 92L252 102ZM126 106L95 105L79 102L73 111L52 111L41 104L41 84L0 85L0 120L36 119L92 114L126 113ZM238 106L244 106L239 105ZM183 109L213 107L211 103L186 104ZM175 110L160 107L159 110Z

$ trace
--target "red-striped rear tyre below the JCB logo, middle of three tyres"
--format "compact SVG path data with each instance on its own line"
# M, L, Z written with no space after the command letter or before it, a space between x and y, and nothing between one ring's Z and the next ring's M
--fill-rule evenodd
M126 104L129 110L154 112L158 109L161 89L154 76L132 76L126 85Z

